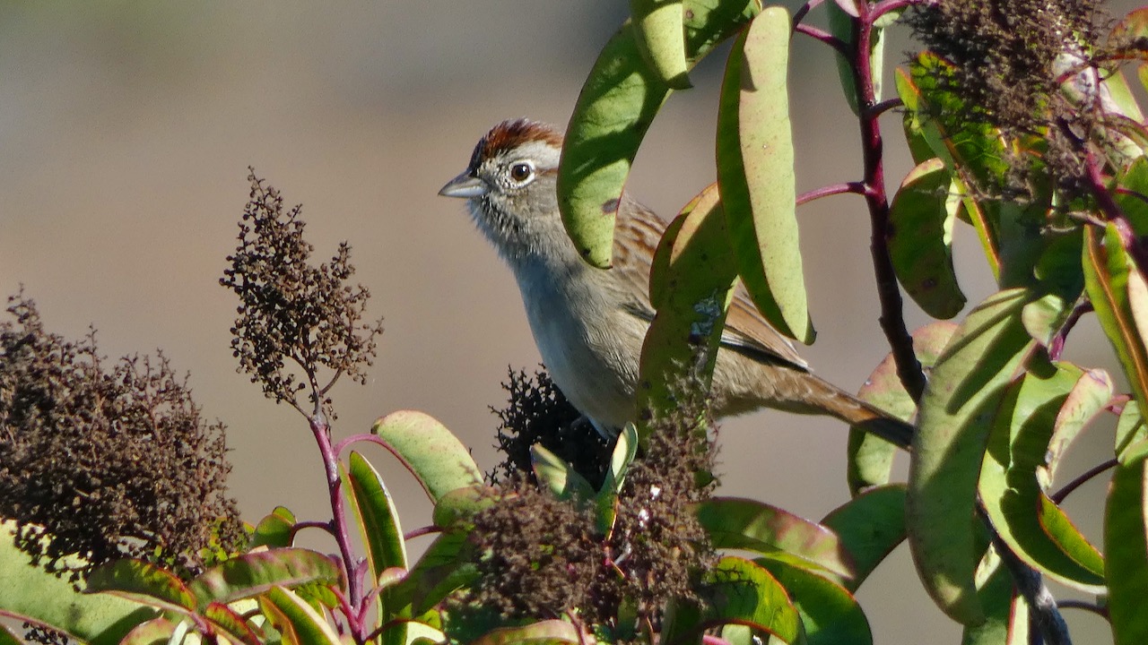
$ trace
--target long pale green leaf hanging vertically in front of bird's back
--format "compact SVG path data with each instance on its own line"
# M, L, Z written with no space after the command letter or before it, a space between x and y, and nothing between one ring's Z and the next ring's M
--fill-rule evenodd
M746 290L779 332L816 335L798 244L789 118L790 17L769 7L730 53L718 111L718 185Z

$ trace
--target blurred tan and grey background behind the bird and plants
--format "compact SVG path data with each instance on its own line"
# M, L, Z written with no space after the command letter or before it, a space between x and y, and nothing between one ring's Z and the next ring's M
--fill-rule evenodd
M386 317L367 384L333 391L335 434L418 409L489 469L498 458L488 406L505 402L507 366L533 371L538 355L510 273L463 204L436 192L495 123L565 124L626 14L620 1L0 2L0 292L23 285L47 328L68 337L94 326L109 357L162 348L191 373L205 417L228 426L230 485L245 519L279 504L323 519L323 471L305 420L236 374L228 348L236 301L218 279L253 165L288 205L304 204L316 263L350 242L354 280L373 294L367 317ZM823 24L822 10L813 20ZM886 60L895 63L913 45L893 31ZM670 98L637 158L630 189L664 218L714 178L724 52L692 73L695 90ZM829 48L799 37L792 61L798 191L856 179L856 123ZM892 193L910 164L900 118L890 114L883 126ZM799 217L819 331L804 355L855 390L886 352L863 203L830 197ZM956 238L975 304L993 290L991 275L972 232L962 226ZM910 327L928 321L912 302L906 309ZM1115 371L1110 353L1092 320L1070 342L1069 357L1086 366ZM729 420L721 494L820 519L847 499L845 436L824 419ZM382 451L366 452L404 528L428 523L429 504L408 473ZM1065 480L1110 454L1111 428L1089 430ZM1066 506L1096 542L1103 492L1096 481ZM960 638L921 591L905 546L859 597L878 643ZM1068 617L1079 642L1110 640L1100 620Z

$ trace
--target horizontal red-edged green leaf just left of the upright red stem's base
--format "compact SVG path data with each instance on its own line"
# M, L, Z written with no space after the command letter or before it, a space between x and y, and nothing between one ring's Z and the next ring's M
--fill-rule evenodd
M188 588L199 606L233 603L273 586L309 583L341 585L342 569L331 558L309 549L276 549L236 555L200 574Z

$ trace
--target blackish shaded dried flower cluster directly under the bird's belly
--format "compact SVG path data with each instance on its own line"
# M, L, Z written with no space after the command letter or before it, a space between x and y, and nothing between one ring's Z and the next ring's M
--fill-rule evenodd
M602 485L612 445L566 401L550 374L535 372L532 378L511 370L503 389L510 394L506 407L491 411L501 421L495 448L506 459L489 474L492 483L512 481L520 474L537 483L530 468L530 446L538 444L574 466L591 485Z

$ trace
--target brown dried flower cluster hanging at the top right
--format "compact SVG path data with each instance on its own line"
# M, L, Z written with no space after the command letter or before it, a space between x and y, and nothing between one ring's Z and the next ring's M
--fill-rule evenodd
M1013 155L1000 186L1006 196L1031 191L1033 170L1047 171L1073 194L1084 177L1089 142L1114 125L1095 79L1107 54L1096 48L1107 18L1096 0L983 0L925 2L907 21L930 50L952 69L934 73L944 91L960 98L956 112L932 115L957 132L964 122L990 123L1011 141L1038 134L1047 149ZM1073 80L1076 79L1076 80ZM1089 80L1091 79L1091 80ZM1092 84L1073 94L1068 81ZM1011 155L1011 150L1006 150Z

